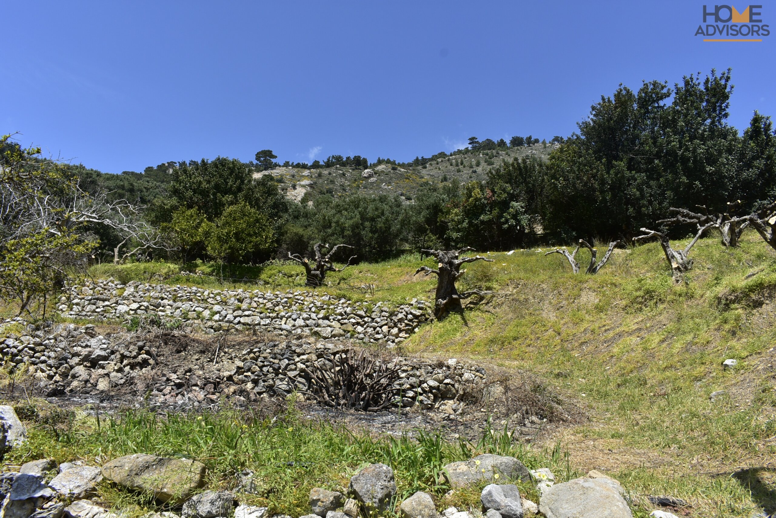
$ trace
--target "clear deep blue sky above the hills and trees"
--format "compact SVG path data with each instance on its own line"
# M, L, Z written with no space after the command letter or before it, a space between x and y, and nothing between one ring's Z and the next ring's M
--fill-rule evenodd
M776 114L776 35L704 43L702 5L2 2L0 132L115 173L265 148L406 161L566 136L620 82L712 67L733 68L734 126Z

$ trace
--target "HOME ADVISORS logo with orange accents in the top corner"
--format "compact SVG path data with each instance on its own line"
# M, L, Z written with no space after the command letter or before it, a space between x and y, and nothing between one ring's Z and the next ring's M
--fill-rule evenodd
M760 9L762 5L747 5L739 12L733 5L715 5L714 9L704 5L703 24L698 26L695 36L707 36L704 41L762 41L763 36L771 35L771 29L763 24Z

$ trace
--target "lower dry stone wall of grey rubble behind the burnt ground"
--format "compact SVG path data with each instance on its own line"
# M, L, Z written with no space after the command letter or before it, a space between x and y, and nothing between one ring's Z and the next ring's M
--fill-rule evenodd
M93 325L74 324L2 337L0 347L6 366L31 368L45 395L137 392L151 404L186 408L217 404L223 397L248 402L292 392L316 401L309 391L310 373L333 371L349 351L342 340L300 337L180 347L175 354L153 334L102 336ZM397 365L390 380L393 406L460 413L467 387L486 379L483 368L455 359L384 361Z

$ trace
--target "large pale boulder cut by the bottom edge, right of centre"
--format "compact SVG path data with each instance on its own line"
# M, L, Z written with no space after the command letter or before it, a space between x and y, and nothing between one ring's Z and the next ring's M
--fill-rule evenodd
M542 492L539 511L546 518L632 518L622 486L613 478L574 478Z

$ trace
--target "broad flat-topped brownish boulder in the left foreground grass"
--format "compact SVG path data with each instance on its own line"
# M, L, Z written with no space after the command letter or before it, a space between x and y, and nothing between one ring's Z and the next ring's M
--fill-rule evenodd
M127 489L153 492L161 502L179 504L203 485L205 464L189 459L133 454L102 466L102 476Z

